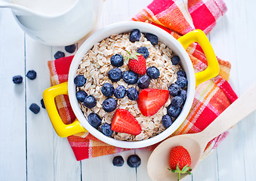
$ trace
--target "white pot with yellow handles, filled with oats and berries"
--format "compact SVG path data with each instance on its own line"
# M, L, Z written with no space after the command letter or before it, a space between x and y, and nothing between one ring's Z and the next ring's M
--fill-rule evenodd
M186 48L198 42L208 67L194 72ZM184 122L196 85L216 76L217 59L199 29L175 39L141 22L115 23L91 35L76 52L68 82L44 92L45 107L60 137L91 133L122 148L159 143ZM68 94L76 115L63 124L54 97Z

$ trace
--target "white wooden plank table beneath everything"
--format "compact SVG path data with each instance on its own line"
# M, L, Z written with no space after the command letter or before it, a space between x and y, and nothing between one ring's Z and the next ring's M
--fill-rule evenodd
M130 20L151 0L108 0L97 29L109 23ZM217 21L209 38L218 57L232 63L230 84L238 95L256 84L256 2L227 0L228 11ZM38 115L31 103L41 106L42 92L50 86L47 60L54 60L63 47L49 47L32 40L17 26L8 9L0 9L0 180L125 181L150 180L147 159L150 152L134 152L142 159L136 169L125 164L114 167L115 155L76 161L65 138L54 132L45 109ZM68 56L69 54L66 54ZM37 78L25 78L34 69ZM23 84L13 84L14 75L23 75ZM230 131L187 180L256 180L256 112Z

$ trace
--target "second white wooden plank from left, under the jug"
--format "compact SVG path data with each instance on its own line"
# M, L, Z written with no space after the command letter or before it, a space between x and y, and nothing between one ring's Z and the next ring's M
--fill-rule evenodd
M37 73L34 80L26 78L26 124L27 124L27 179L53 180L54 143L53 130L47 112L42 109L42 92L50 86L46 61L51 58L51 48L34 41L26 35L26 72ZM36 103L40 112L35 115L29 106Z

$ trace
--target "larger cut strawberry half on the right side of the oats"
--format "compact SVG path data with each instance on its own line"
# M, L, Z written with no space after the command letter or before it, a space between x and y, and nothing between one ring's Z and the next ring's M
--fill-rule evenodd
M161 89L143 89L140 91L139 98L137 100L137 106L140 112L144 116L155 115L159 109L165 105L169 98L168 90Z

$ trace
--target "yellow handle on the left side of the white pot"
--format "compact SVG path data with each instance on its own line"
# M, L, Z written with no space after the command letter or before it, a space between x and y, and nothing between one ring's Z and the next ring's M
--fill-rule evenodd
M43 93L45 109L48 112L51 124L53 125L57 135L60 137L69 137L75 133L88 132L85 130L85 127L82 127L77 119L72 122L72 124L63 123L54 101L54 98L61 94L68 95L67 82L49 87Z

